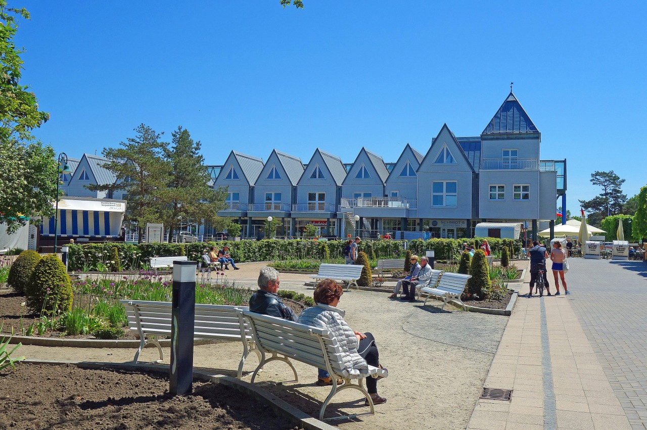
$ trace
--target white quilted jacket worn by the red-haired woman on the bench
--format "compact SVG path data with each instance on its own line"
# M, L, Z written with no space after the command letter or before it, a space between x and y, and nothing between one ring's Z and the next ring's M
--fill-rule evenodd
M334 306L317 303L313 308L307 308L301 312L299 323L311 327L325 328L337 339L342 351L342 366L344 376L358 377L361 374L368 374L369 369L366 360L357 353L359 342L355 332L348 327L344 321L344 310ZM333 365L333 367L336 367Z

